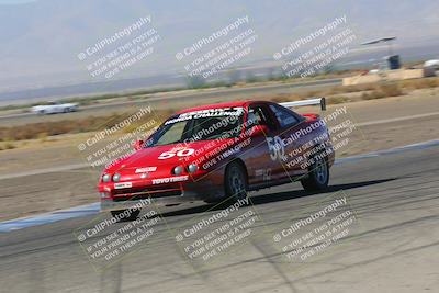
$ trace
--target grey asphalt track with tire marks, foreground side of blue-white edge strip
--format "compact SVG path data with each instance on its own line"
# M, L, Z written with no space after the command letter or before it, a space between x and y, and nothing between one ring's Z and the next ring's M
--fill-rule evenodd
M258 215L251 234L206 261L190 260L176 235L187 223L221 212L212 205L166 212L150 238L102 270L74 234L93 227L89 222L97 216L3 233L0 291L434 292L439 285L438 157L436 145L347 160L331 169L328 193L307 194L292 183L251 194L252 204L239 209ZM290 260L290 250L282 252L273 235L339 195L356 216L349 234L316 256ZM111 225L103 235L125 225Z

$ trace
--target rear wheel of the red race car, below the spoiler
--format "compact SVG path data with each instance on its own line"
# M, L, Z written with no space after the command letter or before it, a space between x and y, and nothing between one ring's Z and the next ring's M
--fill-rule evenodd
M308 177L301 180L302 187L308 192L322 192L328 189L329 166L325 159L319 159L309 167Z

